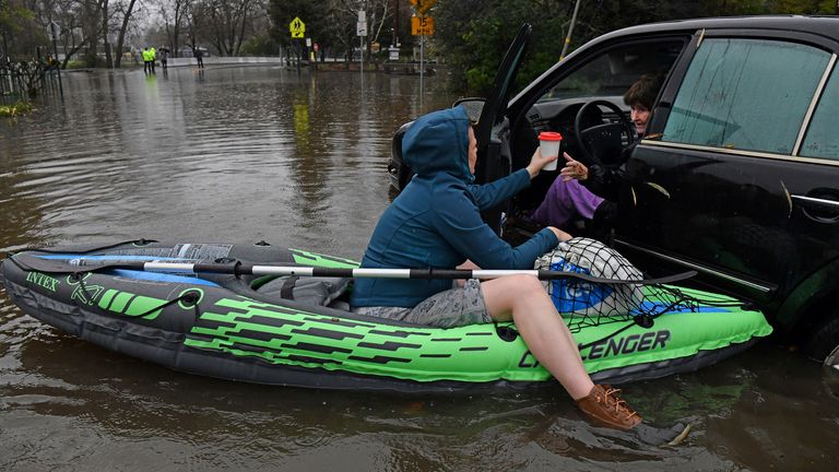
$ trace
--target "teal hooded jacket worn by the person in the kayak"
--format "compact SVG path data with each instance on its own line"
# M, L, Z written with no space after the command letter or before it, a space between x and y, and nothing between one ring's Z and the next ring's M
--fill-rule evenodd
M481 219L481 211L530 185L527 169L474 185L469 170L469 117L454 107L424 115L402 140L414 177L379 219L363 268L454 269L466 259L482 269L532 269L559 243L544 228L513 248ZM413 308L452 287L451 280L356 279L353 307Z

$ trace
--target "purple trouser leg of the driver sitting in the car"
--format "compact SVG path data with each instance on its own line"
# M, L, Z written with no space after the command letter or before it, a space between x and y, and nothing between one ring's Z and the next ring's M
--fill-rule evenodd
M582 216L591 220L603 199L592 193L577 180L564 181L557 176L545 199L531 215L531 220L547 226L565 226Z

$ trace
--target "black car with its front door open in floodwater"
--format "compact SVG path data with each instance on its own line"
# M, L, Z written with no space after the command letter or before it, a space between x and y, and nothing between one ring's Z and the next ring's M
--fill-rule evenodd
M623 93L663 73L625 163L617 249L648 273L697 270L696 283L753 302L810 355L839 363L829 355L839 345L839 17L634 26L591 40L508 99L530 31L508 50L493 95L465 101L480 114L477 180L525 166L544 130L562 132L580 161L615 154L634 138ZM397 189L410 177L407 126L388 165ZM542 172L486 221L516 234L520 219L503 215L536 208L557 174Z

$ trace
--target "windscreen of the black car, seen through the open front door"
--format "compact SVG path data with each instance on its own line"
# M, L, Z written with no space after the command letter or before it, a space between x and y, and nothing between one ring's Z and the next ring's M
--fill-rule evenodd
M633 43L612 48L571 72L539 102L622 96L642 74L667 71L683 47L683 40L673 40Z

